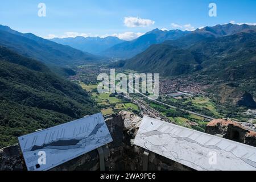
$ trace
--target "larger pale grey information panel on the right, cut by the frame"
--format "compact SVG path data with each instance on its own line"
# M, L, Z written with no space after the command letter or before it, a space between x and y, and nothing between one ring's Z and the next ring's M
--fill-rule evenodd
M256 170L256 148L144 117L134 144L196 170Z

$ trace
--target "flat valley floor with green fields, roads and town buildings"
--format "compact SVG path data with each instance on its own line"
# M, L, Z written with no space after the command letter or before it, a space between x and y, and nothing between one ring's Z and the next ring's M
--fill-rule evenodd
M87 90L96 101L102 114L110 115L121 110L130 110L134 113L143 113L160 117L168 122L195 130L204 131L209 118L230 118L234 121L251 123L250 129L255 129L255 115L246 113L242 107L230 108L216 104L209 98L205 90L212 84L200 84L192 78L160 78L160 97L158 102L152 102L138 94L106 94L97 92L97 76L104 72L109 75L109 69L99 65L82 65L77 68L77 75L71 77L73 82ZM118 70L127 75L131 71ZM134 73L132 71L132 73ZM171 97L168 94L181 91L180 97ZM163 104L160 104L160 103ZM174 106L173 108L170 106ZM145 109L146 108L146 109ZM188 113L186 110L191 111ZM195 112L196 114L194 114ZM198 114L197 114L198 113ZM206 115L209 118L202 116Z

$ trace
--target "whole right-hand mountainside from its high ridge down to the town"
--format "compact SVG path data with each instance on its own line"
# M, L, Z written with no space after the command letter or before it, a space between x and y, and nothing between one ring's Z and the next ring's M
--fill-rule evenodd
M253 91L256 88L255 30L256 26L231 23L205 27L177 40L152 45L133 58L117 61L109 67L159 73L165 77L203 75L216 83L214 87L219 89L213 94L222 104L245 105L245 102L238 102L244 94L246 98L250 94L256 97ZM233 97L224 99L225 89L232 90ZM253 96L250 102L247 100L249 107L256 107Z

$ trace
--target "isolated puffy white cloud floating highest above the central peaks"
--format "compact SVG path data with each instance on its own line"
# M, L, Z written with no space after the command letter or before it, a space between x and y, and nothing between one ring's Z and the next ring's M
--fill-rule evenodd
M142 19L139 17L125 17L123 21L126 27L134 28L134 27L148 27L153 25L155 22L151 19Z

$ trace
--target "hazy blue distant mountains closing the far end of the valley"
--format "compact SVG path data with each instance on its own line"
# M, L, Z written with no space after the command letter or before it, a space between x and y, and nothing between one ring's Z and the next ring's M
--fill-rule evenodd
M110 58L126 59L141 53L152 44L162 43L166 40L176 40L189 34L189 31L170 30L163 31L156 28L137 39L131 41L120 40L114 36L106 38L77 36L76 38L49 39L53 42L68 45L81 51L94 53Z

